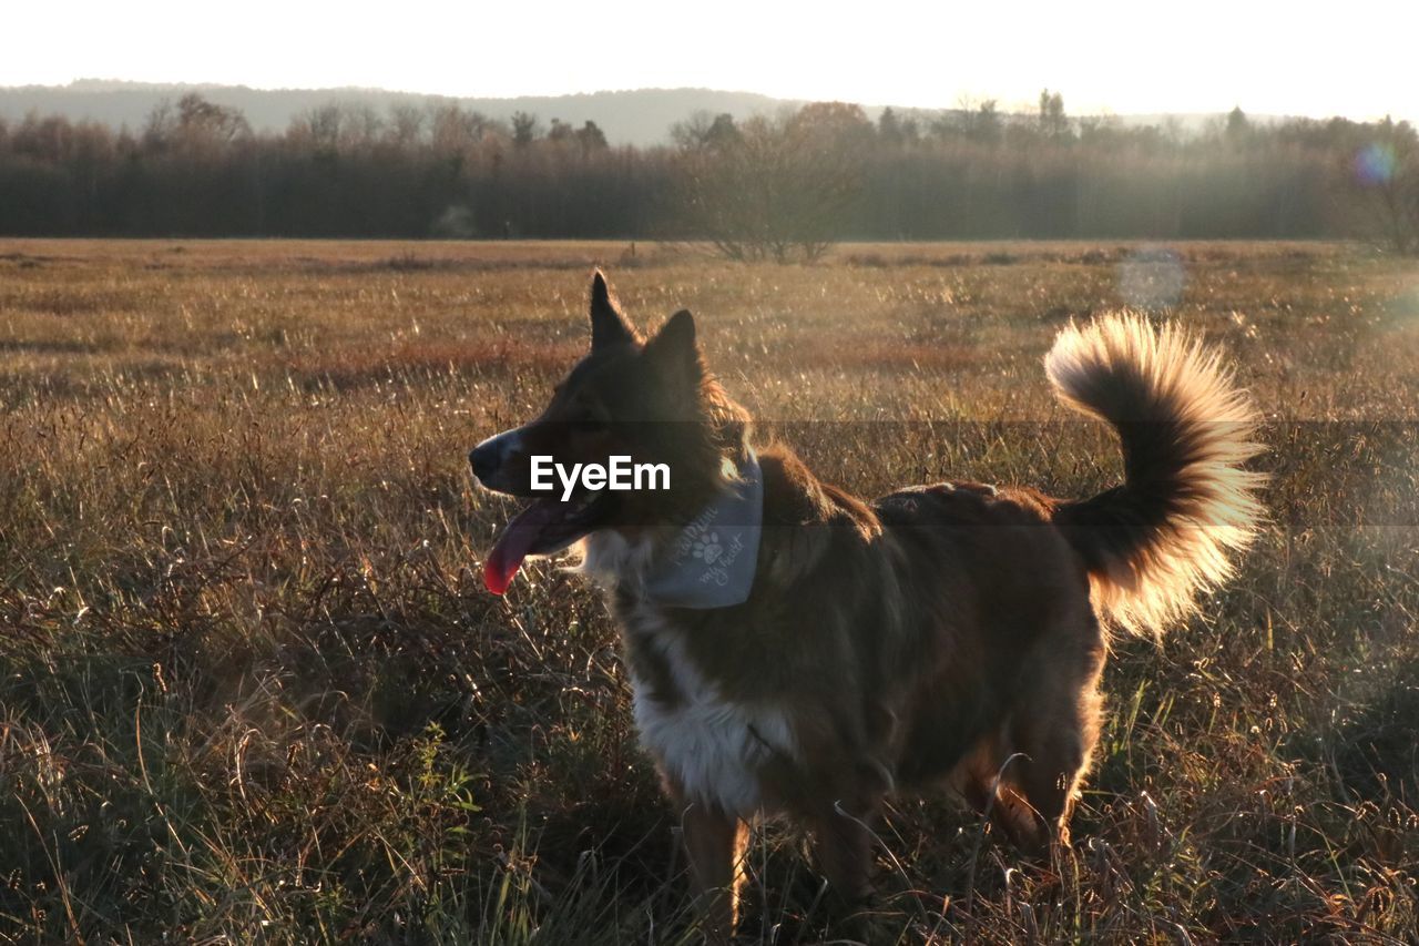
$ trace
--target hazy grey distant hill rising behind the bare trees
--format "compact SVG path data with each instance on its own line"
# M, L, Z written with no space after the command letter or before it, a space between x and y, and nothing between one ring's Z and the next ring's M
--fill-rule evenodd
M291 118L321 105L368 105L386 112L390 105L423 105L458 102L490 118L507 119L514 112L531 112L542 119L543 128L553 118L580 125L596 122L607 141L616 145L658 145L670 139L670 126L697 111L718 115L729 112L736 119L755 114L775 112L802 101L772 98L755 92L725 92L708 88L641 88L620 92L590 92L582 95L552 95L519 98L451 98L419 92L390 92L377 88L316 88L261 89L245 85L150 85L108 80L78 80L68 85L0 87L0 119L17 121L35 111L44 115L65 115L71 119L94 119L119 128L142 128L153 107L163 99L200 92L219 105L240 108L261 131L282 131ZM881 105L866 107L876 119ZM898 109L904 114L929 116L931 109ZM1164 125L1175 122L1182 131L1198 131L1218 115L1120 115L1125 125ZM1252 121L1273 121L1274 116L1249 115Z

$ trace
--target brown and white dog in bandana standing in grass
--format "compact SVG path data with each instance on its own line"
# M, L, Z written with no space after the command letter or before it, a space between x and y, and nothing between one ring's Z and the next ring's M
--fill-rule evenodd
M580 547L711 939L736 922L759 815L809 828L849 902L871 892L871 824L893 791L948 785L1025 851L1069 844L1110 634L1196 611L1257 528L1254 415L1219 355L1134 314L1070 325L1044 372L1117 430L1124 483L1088 499L938 483L864 501L753 445L688 311L647 338L597 270L590 330L542 415L470 453L482 486L535 497L485 578L501 594L528 555ZM539 496L538 455L664 463L670 489Z

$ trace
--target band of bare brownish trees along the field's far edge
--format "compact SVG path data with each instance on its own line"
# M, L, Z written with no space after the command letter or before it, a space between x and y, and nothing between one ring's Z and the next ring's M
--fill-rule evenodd
M1027 114L698 114L653 148L450 104L331 105L257 134L193 94L136 131L0 121L0 233L694 239L779 260L841 239L1374 236L1419 251L1419 143L1406 122L1240 109L1202 131L1125 125L1049 91Z

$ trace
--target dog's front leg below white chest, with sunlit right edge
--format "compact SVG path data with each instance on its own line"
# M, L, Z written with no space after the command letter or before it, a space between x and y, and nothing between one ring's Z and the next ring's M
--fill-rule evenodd
M680 830L705 939L725 943L739 922L749 825L715 807L681 801Z

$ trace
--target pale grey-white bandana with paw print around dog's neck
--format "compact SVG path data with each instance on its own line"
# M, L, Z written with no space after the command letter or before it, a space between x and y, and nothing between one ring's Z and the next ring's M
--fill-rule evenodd
M749 599L763 533L763 474L749 449L739 479L670 543L644 594L671 608L729 608Z

